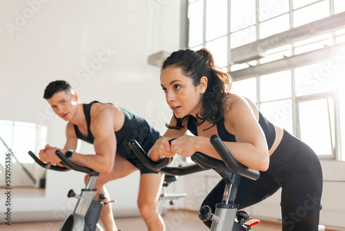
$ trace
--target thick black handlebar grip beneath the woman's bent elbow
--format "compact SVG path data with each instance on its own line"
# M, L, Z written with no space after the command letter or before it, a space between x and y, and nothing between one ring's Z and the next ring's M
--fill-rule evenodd
M230 154L230 151L226 146L224 145L224 142L221 141L219 136L213 135L210 137L210 142L215 147L217 153L221 157L221 159L224 161L226 166L228 166L230 169L233 169L233 171L237 172L237 174L241 176L245 176L247 178L250 178L252 180L257 180L260 176L260 172L258 170L250 169L246 167L245 165L242 165L239 163L233 155Z

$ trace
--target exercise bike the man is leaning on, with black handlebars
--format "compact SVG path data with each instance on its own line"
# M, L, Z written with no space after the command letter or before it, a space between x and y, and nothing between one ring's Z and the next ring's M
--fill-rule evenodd
M101 212L102 206L106 206L107 203L113 202L103 202L106 198L104 194L99 194L99 199L96 201L94 199L97 189L95 189L95 183L99 176L98 172L88 168L75 165L70 162L61 151L55 151L55 154L61 159L61 162L66 165L66 167L59 167L51 165L50 163L43 163L37 156L35 156L32 151L28 152L29 155L34 159L34 161L41 167L46 169L52 169L55 171L65 172L73 169L78 172L84 172L89 175L86 187L81 190L81 194L77 195L73 190L68 192L68 197L75 197L78 199L75 210L70 214L63 224L61 225L60 231L103 231L101 225L98 224L99 213Z

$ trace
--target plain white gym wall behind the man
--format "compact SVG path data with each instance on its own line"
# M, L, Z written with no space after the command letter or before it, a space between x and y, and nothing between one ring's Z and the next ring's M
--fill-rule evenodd
M52 113L43 91L51 81L66 80L81 102L112 102L164 131L172 113L159 68L147 58L179 48L179 12L175 0L0 1L0 119L47 125L50 145L63 147L66 122ZM83 144L81 153L94 151ZM139 214L138 183L139 173L108 183L115 216ZM83 174L48 171L44 196L16 196L13 189L12 222L62 219L74 203L66 193L81 187Z

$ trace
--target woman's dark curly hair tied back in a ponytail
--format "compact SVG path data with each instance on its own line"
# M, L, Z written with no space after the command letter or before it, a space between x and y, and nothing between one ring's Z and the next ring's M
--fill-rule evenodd
M207 77L207 88L201 99L204 110L196 116L202 122L208 121L213 126L223 118L224 98L230 94L232 80L228 73L215 66L215 60L209 50L206 48L197 51L190 49L177 50L163 62L161 71L168 66L181 68L184 75L193 80L195 86L199 86L201 77ZM183 124L188 120L189 115L184 118L177 118L175 115L174 117L177 120L176 126L166 124L166 127L179 130L184 128Z

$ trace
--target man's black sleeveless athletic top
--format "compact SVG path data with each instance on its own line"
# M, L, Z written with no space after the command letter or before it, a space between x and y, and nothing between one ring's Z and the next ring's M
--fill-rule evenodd
M75 125L75 135L77 138L89 142L90 144L93 144L93 141L95 140L90 130L90 109L92 104L95 102L97 101L90 102L90 104L83 104L86 124L88 125L88 136L83 136L83 134L79 131L78 126ZM130 113L130 111L122 109L121 107L120 109L124 112L125 121L121 129L115 132L117 139L117 154L124 158L135 158L135 153L128 145L128 142L133 139L137 140L139 145L141 145L141 147L148 152L150 148L155 145L156 140L160 137L159 132L150 126L150 124L148 124L148 122L146 122L146 120L143 118Z

